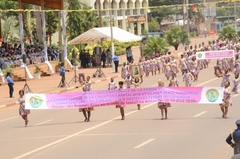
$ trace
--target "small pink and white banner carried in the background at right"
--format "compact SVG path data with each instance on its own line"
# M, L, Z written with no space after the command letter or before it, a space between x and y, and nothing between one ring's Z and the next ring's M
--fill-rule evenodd
M234 57L234 50L197 52L196 57L197 59L232 58Z

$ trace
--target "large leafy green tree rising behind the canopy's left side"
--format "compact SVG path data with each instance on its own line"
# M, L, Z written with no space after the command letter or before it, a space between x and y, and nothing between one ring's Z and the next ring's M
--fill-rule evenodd
M70 33L70 40L84 33L85 31L98 26L98 15L78 0L68 0L68 10L84 10L81 12L68 12L67 30Z

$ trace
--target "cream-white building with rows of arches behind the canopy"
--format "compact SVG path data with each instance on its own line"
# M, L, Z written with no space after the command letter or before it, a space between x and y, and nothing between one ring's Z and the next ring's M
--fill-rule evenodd
M110 9L114 26L140 35L148 31L148 0L81 0L93 9L99 11L101 6L102 24L109 26Z

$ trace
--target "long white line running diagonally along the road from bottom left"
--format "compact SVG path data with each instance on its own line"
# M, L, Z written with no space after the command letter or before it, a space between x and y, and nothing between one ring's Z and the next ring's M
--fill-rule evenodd
M146 108L148 108L148 107L150 107L150 106L152 106L152 105L154 105L154 104L156 104L156 103L148 104L148 105L142 107L142 109L146 109ZM133 114L133 113L136 113L136 112L139 112L139 111L129 112L129 113L127 113L126 115L130 115L130 114ZM119 118L119 117L117 117L117 118ZM52 142L52 143L49 143L49 144L47 144L47 145L44 145L44 146L39 147L39 148L37 148L37 149L34 149L34 150L32 150L32 151L26 152L26 153L24 153L24 154L22 154L22 155L20 155L20 156L15 157L14 159L26 158L27 156L29 156L29 155L31 155L31 154L33 154L33 153L39 152L39 151L41 151L41 150L43 150L43 149L46 149L46 148L48 148L48 147L57 145L57 144L59 144L59 143L61 143L61 142L63 142L63 141L69 140L69 139L71 139L71 138L73 138L73 137L76 137L76 136L78 136L78 135L80 135L80 134L82 134L82 133L88 132L88 131L90 131L90 130L93 130L93 129L99 128L99 127L101 127L101 126L103 126L103 125L106 125L106 124L108 124L108 123L111 123L111 122L113 122L113 121L114 121L115 119L117 119L117 118L114 118L114 119L105 121L105 122L103 122L103 123L101 123L101 124L98 124L98 125L96 125L96 126L93 126L93 127L84 129L84 130L82 130L82 131L79 131L79 132L77 132L77 133L74 133L74 134L72 134L72 135L66 136L66 137L64 137L64 138L62 138L62 139L59 139L59 140L57 140L57 141L54 141L54 142Z

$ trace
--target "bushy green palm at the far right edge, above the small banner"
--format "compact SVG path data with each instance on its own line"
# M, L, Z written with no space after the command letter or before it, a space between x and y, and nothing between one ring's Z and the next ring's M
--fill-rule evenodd
M225 26L219 31L219 38L223 40L237 40L237 31L231 26Z

